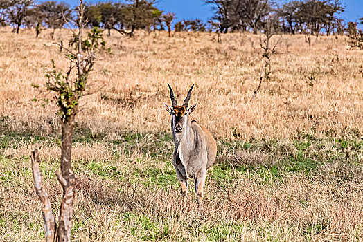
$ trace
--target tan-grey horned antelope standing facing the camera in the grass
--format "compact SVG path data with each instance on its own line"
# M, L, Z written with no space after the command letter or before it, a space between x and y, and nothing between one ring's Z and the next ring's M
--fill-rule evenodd
M186 197L188 195L188 179L194 179L195 194L197 195L198 212L203 210L203 187L206 181L206 171L214 163L217 154L217 144L212 133L190 120L189 115L195 110L194 104L188 108L191 99L191 89L183 102L178 106L171 86L171 107L164 102L166 111L170 113L171 133L174 138L175 149L172 156L172 165L177 172L177 179L182 187L183 210L186 210Z

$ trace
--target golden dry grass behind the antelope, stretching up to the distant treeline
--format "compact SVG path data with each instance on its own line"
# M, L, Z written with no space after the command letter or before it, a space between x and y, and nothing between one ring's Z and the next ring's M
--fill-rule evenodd
M43 109L31 102L39 96L30 84L44 84L51 59L65 67L52 43L67 43L69 32L58 31L55 39L48 32L36 39L30 30L1 35L0 116L9 117L6 126L14 131L53 131L59 126L55 106ZM169 82L179 102L192 83L197 85L191 96L197 103L193 118L218 138L362 134L362 54L346 50L346 37L321 37L311 47L301 35L283 38L272 61L272 80L251 99L262 64L258 36L228 34L218 44L208 33L170 39L164 32L139 32L135 39L114 33L105 37L111 53L99 55L91 75L105 88L82 100L80 125L92 133L167 131L162 102L170 102Z

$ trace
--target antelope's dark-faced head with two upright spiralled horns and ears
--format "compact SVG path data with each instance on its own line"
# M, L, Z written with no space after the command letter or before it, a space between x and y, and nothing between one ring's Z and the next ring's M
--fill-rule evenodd
M171 86L169 84L168 86L170 90L171 107L165 102L164 106L166 111L172 116L172 127L174 128L175 133L182 133L183 129L186 127L188 115L190 115L195 110L195 106L197 106L197 104L194 104L188 109L188 102L191 99L191 92L194 84L191 86L191 89L189 89L188 95L186 95L183 105L181 106L177 105L177 100L175 99Z

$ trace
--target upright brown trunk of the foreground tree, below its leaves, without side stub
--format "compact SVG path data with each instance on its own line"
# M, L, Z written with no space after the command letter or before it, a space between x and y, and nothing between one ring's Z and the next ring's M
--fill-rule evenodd
M63 188L63 199L60 205L60 217L57 230L57 239L60 242L71 241L74 185L76 183L76 176L73 174L71 167L71 154L76 112L75 107L73 113L67 116L62 124L62 154L60 156L60 169L62 174L57 174L58 180Z

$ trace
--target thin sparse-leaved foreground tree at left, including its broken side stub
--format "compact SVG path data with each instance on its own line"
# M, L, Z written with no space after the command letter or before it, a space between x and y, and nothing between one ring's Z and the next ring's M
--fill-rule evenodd
M40 201L42 202L42 213L44 218L44 228L46 241L71 241L71 228L73 221L73 202L75 194L76 174L71 166L71 151L75 118L78 113L80 98L85 95L87 89L87 78L94 65L94 49L96 42L87 39L82 41L82 29L85 27L83 21L84 6L82 0L77 8L78 41L77 50L67 50L66 55L69 60L69 68L66 73L58 72L53 62L53 71L46 75L46 89L55 92L57 105L60 108L60 119L62 122L62 145L60 157L61 172L56 172L57 178L63 188L63 198L60 205L60 215L57 225L51 211L51 203L48 194L42 187L41 175L39 171L39 156L37 150L32 153L32 168L35 188ZM56 234L55 234L56 232Z

